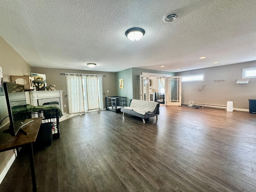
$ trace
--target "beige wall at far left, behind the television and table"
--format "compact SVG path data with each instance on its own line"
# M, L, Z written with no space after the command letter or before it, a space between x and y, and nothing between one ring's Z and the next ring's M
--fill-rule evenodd
M10 82L10 75L23 76L30 75L30 65L0 36L0 67L3 71L3 80ZM5 96L0 96L0 122L8 116ZM6 118L2 124L7 124L9 118ZM0 153L0 174L8 164L14 151Z

